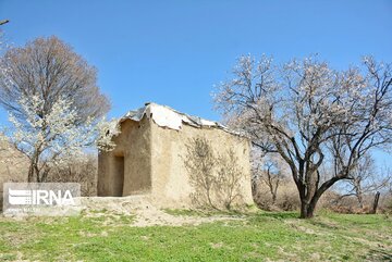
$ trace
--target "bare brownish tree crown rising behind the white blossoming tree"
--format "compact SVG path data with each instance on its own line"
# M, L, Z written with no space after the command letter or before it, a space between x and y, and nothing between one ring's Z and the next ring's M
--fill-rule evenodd
M110 104L97 87L96 68L72 48L52 36L37 38L23 48L10 48L0 60L0 104L15 117L26 118L22 96L44 101L45 117L59 98L72 100L78 123L99 117Z

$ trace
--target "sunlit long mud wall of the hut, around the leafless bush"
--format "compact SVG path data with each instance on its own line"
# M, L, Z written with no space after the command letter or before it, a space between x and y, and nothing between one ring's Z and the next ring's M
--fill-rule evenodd
M245 203L253 203L250 187L249 141L218 128L195 128L183 125L181 130L162 128L151 123L152 198L161 207L192 207L188 174L184 165L186 144L191 138L205 137L215 152L233 149L243 170L241 188ZM164 197L163 197L164 196Z

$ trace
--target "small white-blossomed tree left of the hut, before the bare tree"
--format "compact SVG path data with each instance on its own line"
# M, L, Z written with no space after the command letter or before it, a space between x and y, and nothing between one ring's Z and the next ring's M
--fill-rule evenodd
M23 97L19 103L26 118L20 121L10 113L12 127L5 132L9 141L29 160L28 182L46 182L53 166L84 158L84 150L91 146L113 148L111 138L119 134L117 121L87 118L76 123L77 111L64 98L41 116L44 101L37 96Z

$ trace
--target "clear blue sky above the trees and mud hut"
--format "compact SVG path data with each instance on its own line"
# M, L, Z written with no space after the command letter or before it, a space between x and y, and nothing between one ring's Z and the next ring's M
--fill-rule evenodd
M364 54L392 62L387 0L0 0L0 18L15 46L50 35L73 46L98 68L110 116L155 101L219 120L210 92L241 54L319 53L339 68Z

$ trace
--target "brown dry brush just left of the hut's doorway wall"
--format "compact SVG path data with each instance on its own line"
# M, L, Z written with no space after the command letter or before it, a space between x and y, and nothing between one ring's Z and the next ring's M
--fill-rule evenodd
M98 163L96 155L74 159L60 167L53 167L48 176L52 183L79 183L81 195L97 196Z

